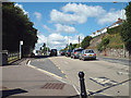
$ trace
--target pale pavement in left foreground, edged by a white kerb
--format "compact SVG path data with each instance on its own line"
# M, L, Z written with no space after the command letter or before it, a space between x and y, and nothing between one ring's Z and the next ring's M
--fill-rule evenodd
M27 65L29 59L19 64L0 66L2 69L2 97L57 96L56 98L80 97L75 87L43 71ZM27 98L28 98L27 97Z

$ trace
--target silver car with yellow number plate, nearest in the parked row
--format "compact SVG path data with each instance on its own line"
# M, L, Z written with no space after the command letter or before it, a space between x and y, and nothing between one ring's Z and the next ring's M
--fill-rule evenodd
M93 49L85 49L82 50L81 54L80 54L80 60L87 60L87 59L94 59L96 60L96 53L94 52Z

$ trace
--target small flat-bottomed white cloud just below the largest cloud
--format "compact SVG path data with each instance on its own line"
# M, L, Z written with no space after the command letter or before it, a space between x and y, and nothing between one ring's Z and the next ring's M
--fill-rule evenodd
M56 24L57 33L78 33L72 26Z

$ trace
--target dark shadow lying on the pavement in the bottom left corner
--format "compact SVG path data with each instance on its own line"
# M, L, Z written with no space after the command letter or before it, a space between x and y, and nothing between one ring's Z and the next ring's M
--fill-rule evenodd
M21 88L9 89L9 90L0 90L0 91L2 91L2 98L9 97L9 96L15 95L15 94L27 93L26 90L23 90Z

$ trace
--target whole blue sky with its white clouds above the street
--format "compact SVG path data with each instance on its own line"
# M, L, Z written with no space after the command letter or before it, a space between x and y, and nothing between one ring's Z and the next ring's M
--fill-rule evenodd
M128 3L123 2L123 8ZM16 2L38 29L35 50L44 42L63 49L122 19L122 3L112 2ZM126 13L123 9L123 13ZM124 15L126 19L126 15Z

